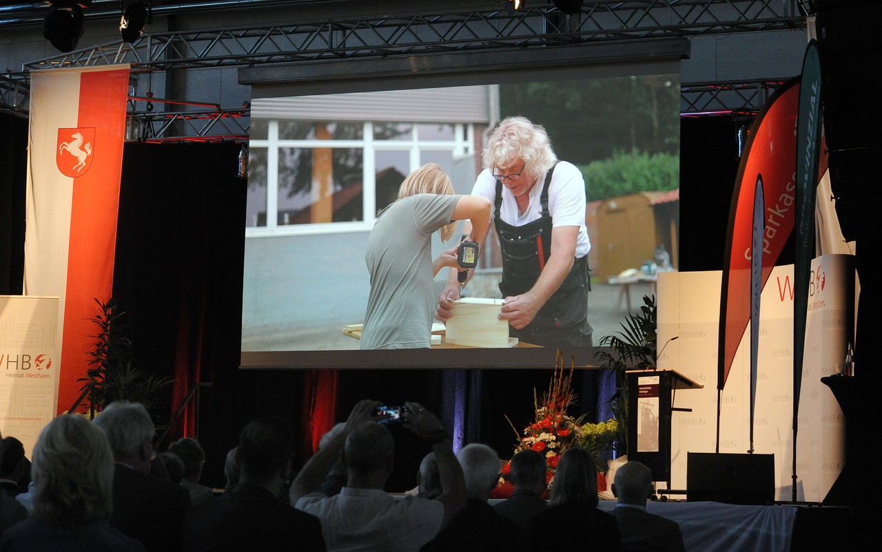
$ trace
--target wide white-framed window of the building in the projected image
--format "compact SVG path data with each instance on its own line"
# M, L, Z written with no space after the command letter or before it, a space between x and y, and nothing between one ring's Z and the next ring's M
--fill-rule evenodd
M294 224L370 224L407 173L429 162L450 172L471 135L470 125L446 122L254 121L245 226L289 233Z

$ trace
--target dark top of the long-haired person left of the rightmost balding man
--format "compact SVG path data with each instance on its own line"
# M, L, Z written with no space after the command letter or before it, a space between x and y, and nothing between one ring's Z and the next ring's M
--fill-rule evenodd
M584 503L557 504L533 516L530 547L549 552L614 552L622 549L612 514Z

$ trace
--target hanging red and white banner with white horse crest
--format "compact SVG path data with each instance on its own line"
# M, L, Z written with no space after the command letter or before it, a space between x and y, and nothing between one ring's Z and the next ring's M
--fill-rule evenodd
M62 328L57 411L80 394L113 292L129 66L31 75L25 294L57 295Z

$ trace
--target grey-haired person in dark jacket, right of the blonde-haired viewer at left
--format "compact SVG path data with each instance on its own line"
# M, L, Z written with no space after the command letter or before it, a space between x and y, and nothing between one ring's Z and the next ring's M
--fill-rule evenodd
M144 405L111 402L92 423L107 436L116 459L110 524L148 551L179 550L190 495L181 485L150 475L156 430Z

